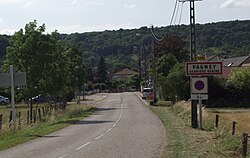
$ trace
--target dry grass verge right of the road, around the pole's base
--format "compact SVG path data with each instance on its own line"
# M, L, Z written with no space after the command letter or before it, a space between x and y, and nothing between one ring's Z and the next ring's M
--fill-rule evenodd
M165 130L164 158L226 158L239 157L240 139L231 136L228 129L215 129L204 123L205 130L190 127L190 113L180 106L150 106L159 116Z

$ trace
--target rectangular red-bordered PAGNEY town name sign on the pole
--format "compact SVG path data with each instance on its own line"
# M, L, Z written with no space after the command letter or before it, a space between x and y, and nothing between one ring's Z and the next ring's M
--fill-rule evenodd
M187 76L209 76L222 74L222 62L187 62Z

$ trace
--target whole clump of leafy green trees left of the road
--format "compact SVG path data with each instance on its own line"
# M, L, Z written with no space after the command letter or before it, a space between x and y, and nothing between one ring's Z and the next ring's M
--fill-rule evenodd
M26 24L10 39L3 69L13 65L26 72L27 86L24 98L42 94L60 98L65 108L68 94L81 89L85 83L85 63L78 45L63 47L57 40L58 33L44 34L45 25L33 21Z

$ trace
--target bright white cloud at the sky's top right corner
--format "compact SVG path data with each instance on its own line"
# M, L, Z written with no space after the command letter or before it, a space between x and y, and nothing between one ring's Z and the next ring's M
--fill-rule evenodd
M221 9L250 7L250 0L226 0L220 5Z

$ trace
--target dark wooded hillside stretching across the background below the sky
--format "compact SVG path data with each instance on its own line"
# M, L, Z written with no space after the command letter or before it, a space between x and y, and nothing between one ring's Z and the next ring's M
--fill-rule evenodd
M250 20L197 24L197 54L218 54L225 57L250 54ZM155 28L155 34L162 37L166 32L178 35L189 47L189 26L178 25ZM1 61L5 55L10 36L0 36ZM137 51L142 43L150 43L151 35L147 27L132 30L116 30L89 33L59 34L60 41L80 44L82 56L92 67L96 67L100 56L105 57L111 72L124 67L137 69ZM137 46L137 50L135 50ZM142 51L142 50L140 50ZM2 62L1 62L2 64Z

